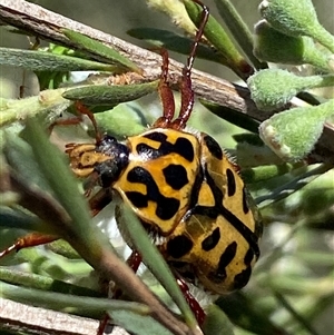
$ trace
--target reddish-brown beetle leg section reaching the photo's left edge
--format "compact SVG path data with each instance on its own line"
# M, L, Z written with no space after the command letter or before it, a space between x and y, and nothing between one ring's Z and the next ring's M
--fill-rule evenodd
M51 243L59 237L55 235L45 235L39 233L31 233L23 237L18 238L11 246L6 248L4 250L0 252L0 258L4 257L6 255L10 254L11 252L19 252L23 248L36 247L42 244Z

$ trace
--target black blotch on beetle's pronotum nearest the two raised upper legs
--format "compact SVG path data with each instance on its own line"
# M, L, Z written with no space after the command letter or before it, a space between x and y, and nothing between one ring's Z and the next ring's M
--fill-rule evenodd
M138 155L146 155L150 159L157 159L161 156L167 156L174 152L184 157L188 161L193 161L195 158L193 144L187 138L179 137L175 144L170 144L167 140L167 136L159 131L147 134L144 137L160 142L160 146L156 149L147 144L139 144L136 147Z

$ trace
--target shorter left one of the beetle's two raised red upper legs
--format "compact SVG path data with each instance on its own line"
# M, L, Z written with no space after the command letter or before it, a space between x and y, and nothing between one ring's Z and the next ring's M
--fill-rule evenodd
M174 95L168 83L168 52L167 50L161 49L160 53L163 57L163 66L159 82L159 96L163 104L163 116L155 121L153 126L155 128L168 127L175 114Z

